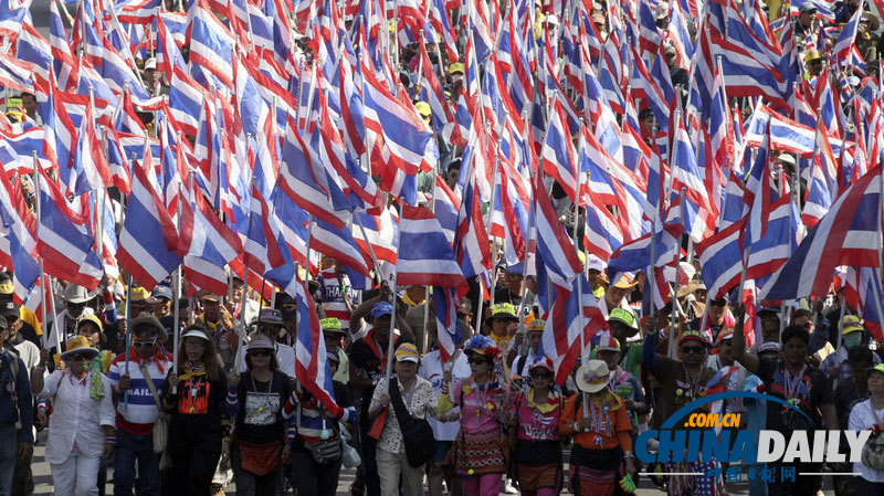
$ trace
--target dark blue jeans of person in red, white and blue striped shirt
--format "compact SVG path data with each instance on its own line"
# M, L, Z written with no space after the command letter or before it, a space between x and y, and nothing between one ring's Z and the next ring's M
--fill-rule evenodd
M154 453L152 434L134 434L117 429L114 451L114 496L131 496L135 464L138 463L139 496L159 496L159 458Z

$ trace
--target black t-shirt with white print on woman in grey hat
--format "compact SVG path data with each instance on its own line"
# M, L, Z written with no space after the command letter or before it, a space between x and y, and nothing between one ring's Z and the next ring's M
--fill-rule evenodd
M270 381L255 381L250 372L240 376L236 390L240 409L236 412L235 435L240 441L266 444L285 436L282 409L292 398L292 381L274 370Z

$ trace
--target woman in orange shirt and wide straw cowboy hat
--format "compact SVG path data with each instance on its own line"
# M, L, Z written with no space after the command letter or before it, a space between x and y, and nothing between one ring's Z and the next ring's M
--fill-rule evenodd
M589 407L583 404L585 395L577 393L565 403L559 421L559 431L573 436L570 483L576 496L612 495L618 482L629 486L635 474L632 424L623 400L608 389L610 380L602 360L589 360L577 369L575 382Z

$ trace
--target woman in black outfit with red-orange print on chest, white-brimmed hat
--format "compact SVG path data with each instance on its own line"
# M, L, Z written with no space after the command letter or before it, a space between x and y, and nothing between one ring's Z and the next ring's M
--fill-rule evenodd
M214 468L230 446L228 381L201 326L188 327L181 339L180 374L169 371L162 391L162 407L170 414L166 446L172 461L169 483L172 494L209 496Z

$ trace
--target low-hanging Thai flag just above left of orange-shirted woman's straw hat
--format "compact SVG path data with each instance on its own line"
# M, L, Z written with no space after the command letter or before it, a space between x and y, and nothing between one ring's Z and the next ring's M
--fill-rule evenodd
M538 256L538 263L540 258ZM580 356L580 344L589 345L596 334L608 329L607 312L599 307L586 276L579 274L578 277L580 284L575 282L567 287L556 288L556 298L540 341L544 355L552 360L556 382L559 384L565 384L571 374L573 363ZM582 286L582 294L578 291L579 286Z

